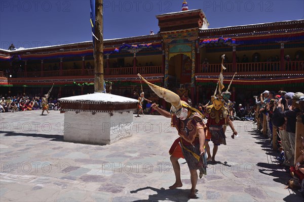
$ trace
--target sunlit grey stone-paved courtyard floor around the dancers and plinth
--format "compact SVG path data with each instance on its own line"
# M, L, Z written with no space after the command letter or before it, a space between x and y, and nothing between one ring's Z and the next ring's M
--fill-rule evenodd
M65 142L69 123L50 112L0 113L0 201L303 201L299 192L284 189L290 175L252 122L235 121L235 139L227 130L217 164L198 180L198 198L188 199L184 160L183 186L168 189L175 180L168 150L178 137L170 119L134 117L132 137L89 145Z

